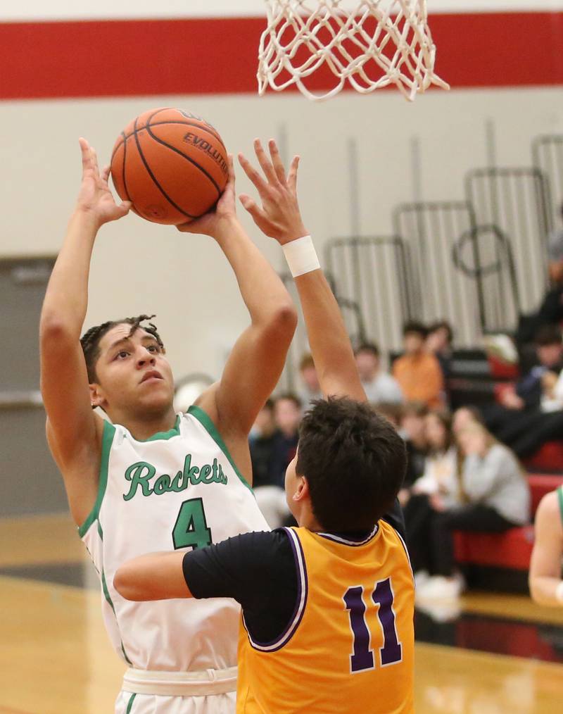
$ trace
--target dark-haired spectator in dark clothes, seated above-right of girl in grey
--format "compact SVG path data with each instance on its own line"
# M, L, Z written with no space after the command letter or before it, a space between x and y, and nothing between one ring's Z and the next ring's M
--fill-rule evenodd
M544 326L535 342L539 364L514 388L504 390L499 404L482 408L487 428L522 458L531 456L546 441L563 438L563 400L559 406L555 397L563 360L561 331Z

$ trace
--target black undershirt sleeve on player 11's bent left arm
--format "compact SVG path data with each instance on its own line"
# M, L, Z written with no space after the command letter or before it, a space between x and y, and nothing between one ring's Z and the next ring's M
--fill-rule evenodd
M270 643L290 622L297 600L297 569L284 528L243 533L198 548L183 558L194 598L233 598L258 643Z

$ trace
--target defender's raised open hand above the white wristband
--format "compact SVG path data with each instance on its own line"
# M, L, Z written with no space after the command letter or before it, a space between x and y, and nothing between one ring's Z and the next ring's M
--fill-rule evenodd
M293 157L286 176L278 146L273 139L268 142L268 148L270 156L265 153L260 140L255 139L254 151L263 175L243 154L238 155L240 166L256 187L262 206L258 206L258 203L245 193L239 198L260 231L284 245L295 238L308 235L297 200L299 156Z

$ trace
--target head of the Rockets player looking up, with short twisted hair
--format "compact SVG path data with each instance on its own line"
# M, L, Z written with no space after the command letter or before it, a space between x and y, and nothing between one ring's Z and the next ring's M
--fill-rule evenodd
M171 407L172 371L153 316L111 320L90 328L81 338L92 406L114 421L150 416Z

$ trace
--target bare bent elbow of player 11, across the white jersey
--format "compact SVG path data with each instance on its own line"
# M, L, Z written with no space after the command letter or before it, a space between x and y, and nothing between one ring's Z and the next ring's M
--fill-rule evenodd
M113 577L113 587L126 600L191 598L183 575L185 553L148 553L127 560Z

